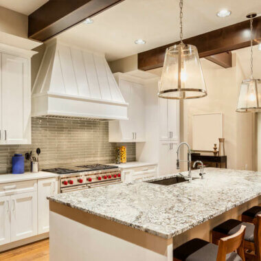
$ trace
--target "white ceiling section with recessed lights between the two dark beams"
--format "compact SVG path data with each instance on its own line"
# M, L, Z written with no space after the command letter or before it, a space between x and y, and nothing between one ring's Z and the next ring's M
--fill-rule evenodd
M216 16L216 12L223 8L231 10L231 16L223 19ZM246 14L253 11L261 13L260 0L184 1L184 38L244 21ZM58 38L103 52L108 60L179 41L178 0L125 0L93 20L93 24L81 23ZM146 45L135 45L138 38L144 39Z

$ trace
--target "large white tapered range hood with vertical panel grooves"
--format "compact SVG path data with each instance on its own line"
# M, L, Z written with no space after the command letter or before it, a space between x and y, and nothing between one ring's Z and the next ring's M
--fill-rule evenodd
M125 102L103 54L54 39L32 89L32 117L128 120Z

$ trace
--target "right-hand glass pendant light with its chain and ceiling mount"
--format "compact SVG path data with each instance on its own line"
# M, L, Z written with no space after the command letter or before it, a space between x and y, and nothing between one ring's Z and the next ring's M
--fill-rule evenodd
M250 32L251 32L251 59L250 69L251 76L249 79L243 80L240 87L238 98L238 107L236 109L239 113L257 113L261 111L261 82L260 79L253 78L253 18L256 13L247 14L250 19Z

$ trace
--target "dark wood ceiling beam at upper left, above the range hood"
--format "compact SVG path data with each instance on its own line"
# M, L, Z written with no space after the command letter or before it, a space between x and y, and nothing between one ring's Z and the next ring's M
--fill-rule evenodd
M28 37L46 41L124 0L49 0L28 17Z

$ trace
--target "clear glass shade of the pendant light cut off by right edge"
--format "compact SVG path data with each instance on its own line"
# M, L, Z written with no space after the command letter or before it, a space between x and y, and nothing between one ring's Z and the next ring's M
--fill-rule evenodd
M240 113L261 111L260 79L247 79L242 81L236 111Z

